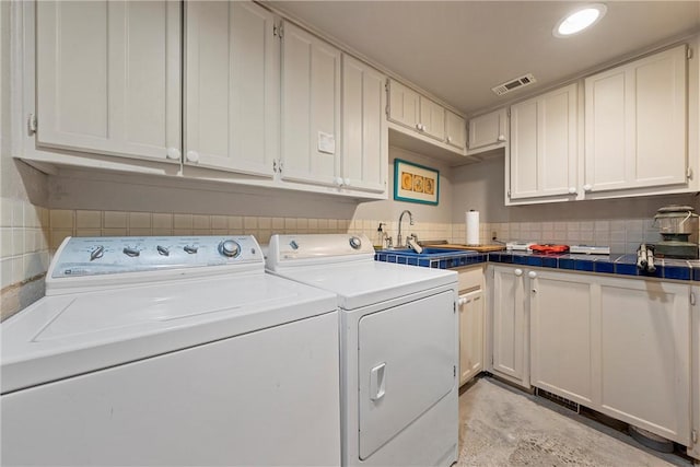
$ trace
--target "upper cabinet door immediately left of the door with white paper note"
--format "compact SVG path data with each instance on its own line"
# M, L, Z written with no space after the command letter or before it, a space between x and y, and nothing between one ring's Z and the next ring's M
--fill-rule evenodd
M187 2L185 163L273 175L279 39L250 2Z

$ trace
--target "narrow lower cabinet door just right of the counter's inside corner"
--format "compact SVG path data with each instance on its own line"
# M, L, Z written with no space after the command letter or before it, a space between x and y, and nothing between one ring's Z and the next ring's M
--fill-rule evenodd
M520 268L494 267L492 285L492 371L529 387L527 367L527 315L524 271Z

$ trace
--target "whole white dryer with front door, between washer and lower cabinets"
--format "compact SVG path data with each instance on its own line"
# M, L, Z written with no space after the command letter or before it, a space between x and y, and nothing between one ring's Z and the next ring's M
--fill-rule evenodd
M365 236L273 235L267 268L340 307L345 466L457 460L457 273L378 262Z

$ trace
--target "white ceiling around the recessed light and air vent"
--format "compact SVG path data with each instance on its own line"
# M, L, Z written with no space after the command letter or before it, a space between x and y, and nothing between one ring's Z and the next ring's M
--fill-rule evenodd
M700 1L608 1L591 31L551 31L579 1L272 1L469 115L700 31ZM696 51L698 54L700 51ZM537 83L497 96L524 73Z

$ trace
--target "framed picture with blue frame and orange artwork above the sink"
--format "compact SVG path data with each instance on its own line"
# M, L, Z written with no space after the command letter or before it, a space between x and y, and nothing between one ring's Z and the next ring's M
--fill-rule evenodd
M438 206L440 172L424 165L395 159L394 199Z

